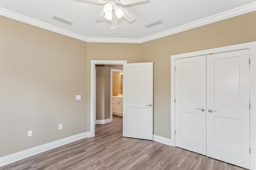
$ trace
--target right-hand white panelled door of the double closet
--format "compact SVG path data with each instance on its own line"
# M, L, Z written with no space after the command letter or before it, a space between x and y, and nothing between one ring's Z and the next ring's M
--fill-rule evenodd
M207 156L248 165L249 50L207 55L206 60Z

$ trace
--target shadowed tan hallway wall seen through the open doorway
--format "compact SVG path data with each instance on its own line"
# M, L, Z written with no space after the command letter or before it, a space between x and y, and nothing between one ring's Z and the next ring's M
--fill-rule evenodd
M122 70L122 65L96 65L96 119L110 118L110 68Z

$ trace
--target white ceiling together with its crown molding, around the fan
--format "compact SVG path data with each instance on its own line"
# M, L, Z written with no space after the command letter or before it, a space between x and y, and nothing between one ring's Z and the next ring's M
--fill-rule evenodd
M116 19L116 29L110 28L111 21L95 21L103 6L74 0L0 0L0 14L88 42L141 43L254 11L256 0L149 0L124 6L136 20ZM52 20L53 15L74 25ZM143 26L158 19L163 23Z

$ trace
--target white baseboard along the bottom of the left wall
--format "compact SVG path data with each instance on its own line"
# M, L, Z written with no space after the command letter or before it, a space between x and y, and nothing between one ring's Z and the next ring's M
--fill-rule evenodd
M7 156L3 156L0 158L0 166L4 166L6 164L10 164L12 162L27 158L29 156L33 156L35 154L39 154L46 150L54 149L56 147L60 147L62 145L66 145L68 143L72 143L74 141L78 141L80 139L84 139L86 137L90 137L88 132L80 133L78 135L66 137L64 139L60 139L58 141L53 141L50 143L46 143L44 145L40 145L38 147L30 148L27 150L22 150L20 152L16 152L14 154L10 154Z

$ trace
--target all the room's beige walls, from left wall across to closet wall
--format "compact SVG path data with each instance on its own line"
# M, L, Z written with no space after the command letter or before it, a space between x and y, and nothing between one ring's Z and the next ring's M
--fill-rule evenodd
M256 12L142 44L86 43L0 16L0 156L90 131L90 60L154 62L154 134L170 138L170 55L251 41Z

